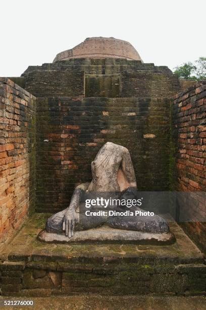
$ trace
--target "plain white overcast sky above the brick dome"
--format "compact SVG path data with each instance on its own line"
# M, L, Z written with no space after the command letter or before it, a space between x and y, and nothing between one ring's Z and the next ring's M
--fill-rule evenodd
M91 36L129 41L144 62L173 69L206 57L205 9L205 0L2 0L0 76L52 62Z

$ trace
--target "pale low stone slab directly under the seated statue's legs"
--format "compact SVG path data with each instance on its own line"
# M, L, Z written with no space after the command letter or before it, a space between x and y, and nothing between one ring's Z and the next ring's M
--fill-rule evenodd
M133 243L133 244L172 244L175 242L171 232L157 234L152 232L132 231L125 229L114 229L107 226L76 231L72 238L65 235L51 234L46 230L40 231L38 240L42 242L55 243Z

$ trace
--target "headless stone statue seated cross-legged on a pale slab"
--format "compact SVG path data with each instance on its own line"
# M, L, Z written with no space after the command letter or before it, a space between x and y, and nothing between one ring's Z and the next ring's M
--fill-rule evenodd
M67 209L48 218L46 233L66 235L72 238L77 231L100 227L103 224L111 228L167 234L169 227L165 219L154 216L80 216L79 206L84 192L119 192L120 196L130 194L135 198L137 189L135 173L127 148L107 142L101 147L91 163L92 180L77 186ZM95 207L94 207L95 208ZM121 206L120 206L121 208ZM139 210L138 207L130 211Z

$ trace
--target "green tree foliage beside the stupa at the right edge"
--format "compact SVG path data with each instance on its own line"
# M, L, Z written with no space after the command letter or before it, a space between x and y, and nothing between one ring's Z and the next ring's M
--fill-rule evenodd
M174 69L174 73L178 75L179 79L206 80L206 57L199 57L194 63L185 62Z

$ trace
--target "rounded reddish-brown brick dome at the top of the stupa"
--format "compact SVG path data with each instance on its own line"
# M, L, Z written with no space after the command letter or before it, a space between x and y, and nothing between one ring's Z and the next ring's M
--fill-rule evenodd
M87 37L73 49L57 54L53 62L73 58L124 58L141 60L138 52L127 41L114 37Z

